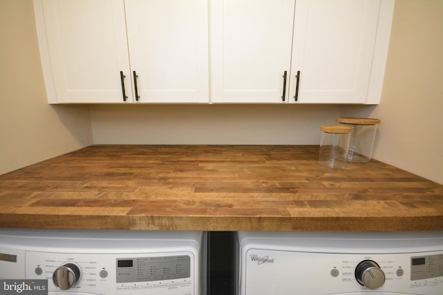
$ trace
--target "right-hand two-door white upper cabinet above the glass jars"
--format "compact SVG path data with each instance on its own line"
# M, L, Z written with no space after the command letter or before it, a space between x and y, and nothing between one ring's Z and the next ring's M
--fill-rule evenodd
M211 102L378 103L393 4L211 1Z

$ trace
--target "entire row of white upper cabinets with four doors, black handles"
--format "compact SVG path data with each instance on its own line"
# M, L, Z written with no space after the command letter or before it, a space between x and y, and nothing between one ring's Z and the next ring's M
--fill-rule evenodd
M377 104L394 0L34 6L50 103Z

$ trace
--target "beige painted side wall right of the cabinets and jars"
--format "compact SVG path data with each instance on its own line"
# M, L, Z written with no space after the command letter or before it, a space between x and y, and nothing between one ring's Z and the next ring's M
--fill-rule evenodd
M395 2L373 158L443 184L443 1Z

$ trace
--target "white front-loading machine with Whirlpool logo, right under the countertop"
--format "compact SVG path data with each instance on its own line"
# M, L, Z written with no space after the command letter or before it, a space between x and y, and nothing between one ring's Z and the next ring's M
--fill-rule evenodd
M239 232L240 295L442 295L443 231Z

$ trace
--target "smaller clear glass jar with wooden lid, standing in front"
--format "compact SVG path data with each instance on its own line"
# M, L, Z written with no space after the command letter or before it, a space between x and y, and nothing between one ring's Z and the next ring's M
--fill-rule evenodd
M354 128L343 125L321 126L318 164L328 168L345 168L351 133Z

